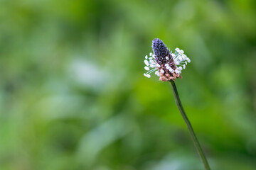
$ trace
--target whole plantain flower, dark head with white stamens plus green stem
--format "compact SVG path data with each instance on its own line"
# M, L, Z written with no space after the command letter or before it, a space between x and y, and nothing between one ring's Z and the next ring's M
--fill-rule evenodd
M205 154L203 153L203 149L201 148L191 123L189 122L188 117L186 116L186 113L181 105L181 99L178 96L178 91L174 83L175 79L182 78L181 70L185 69L186 65L191 62L191 60L184 54L184 51L180 50L178 47L176 47L174 53L171 52L166 47L164 42L158 38L155 38L152 41L152 50L154 54L150 52L149 57L146 55L144 60L144 63L146 64L144 69L148 71L144 73L144 76L150 78L150 74L155 72L156 76L159 77L159 81L171 82L178 110L181 112L183 120L185 120L185 123L188 127L188 132L191 135L193 143L196 147L196 151L201 157L205 169L210 170L210 166L207 162Z

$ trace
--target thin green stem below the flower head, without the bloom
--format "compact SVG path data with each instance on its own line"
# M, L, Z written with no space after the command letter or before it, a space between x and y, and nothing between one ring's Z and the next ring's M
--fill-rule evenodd
M171 86L172 86L172 89L174 91L174 98L175 98L176 104L178 106L178 110L181 112L181 115L182 115L183 119L185 120L185 123L188 127L188 131L189 131L189 133L191 135L191 138L193 140L193 143L194 143L194 145L196 147L196 150L197 150L197 152L198 152L198 154L201 157L201 160L203 162L203 166L205 167L206 170L210 170L210 166L207 162L205 154L203 153L203 149L201 148L201 145L199 144L198 139L196 138L196 134L193 131L191 123L189 122L188 117L186 116L186 113L185 113L185 111L184 111L184 109L181 105L181 99L178 96L178 91L177 91L176 85L175 85L173 80L171 80Z

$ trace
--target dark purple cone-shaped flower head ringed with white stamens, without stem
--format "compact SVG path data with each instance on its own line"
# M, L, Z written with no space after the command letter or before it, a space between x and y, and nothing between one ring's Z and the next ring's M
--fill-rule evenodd
M186 69L186 64L191 60L184 54L183 50L178 47L175 52L172 53L164 45L162 40L155 38L152 41L153 52L149 53L149 57L146 55L144 63L146 64L145 77L150 78L150 74L155 72L156 76L159 77L159 81L170 81L181 77L181 70Z

